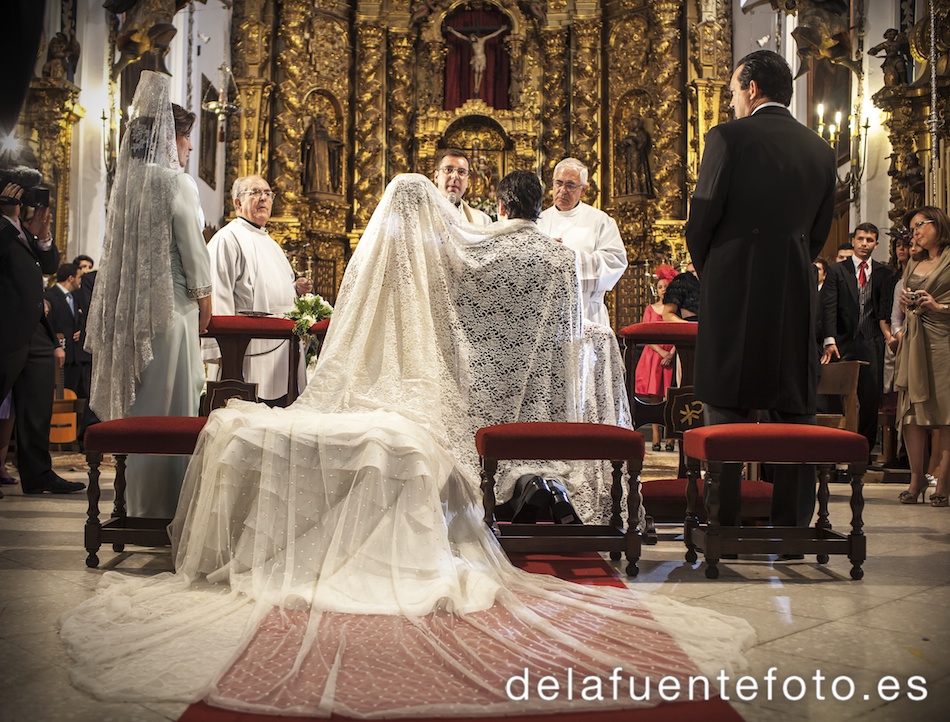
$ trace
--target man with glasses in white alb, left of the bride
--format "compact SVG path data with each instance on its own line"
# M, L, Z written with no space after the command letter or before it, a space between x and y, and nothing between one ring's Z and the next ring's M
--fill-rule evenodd
M208 244L214 313L233 316L242 311L281 315L290 310L294 299L310 293L313 284L296 278L287 256L265 226L274 208L270 184L257 175L234 181L231 188L237 217L214 234ZM280 405L287 395L287 366L290 340L253 339L244 356L244 380L257 384L262 401ZM213 340L204 342L208 376L217 379L221 352ZM301 354L302 355L302 354ZM306 385L301 362L299 386Z

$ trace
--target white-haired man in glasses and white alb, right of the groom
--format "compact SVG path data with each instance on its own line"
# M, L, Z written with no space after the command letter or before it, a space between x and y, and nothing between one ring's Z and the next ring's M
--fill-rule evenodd
M565 158L554 166L554 205L541 213L538 230L577 254L584 319L610 325L604 294L627 268L627 252L613 218L587 205L587 166Z

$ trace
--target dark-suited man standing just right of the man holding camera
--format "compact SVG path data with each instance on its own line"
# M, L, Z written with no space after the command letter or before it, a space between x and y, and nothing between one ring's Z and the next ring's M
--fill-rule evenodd
M91 374L89 354L79 345L82 336L83 310L79 302L82 271L73 263L64 263L56 271L56 284L44 294L49 303L49 323L66 352L63 364L63 386L76 392L80 399L89 398Z

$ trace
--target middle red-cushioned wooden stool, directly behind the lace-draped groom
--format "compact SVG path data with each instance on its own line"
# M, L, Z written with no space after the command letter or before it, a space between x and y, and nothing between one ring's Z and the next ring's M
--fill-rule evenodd
M639 573L640 471L643 436L609 424L535 422L479 429L475 446L481 457L485 523L507 552L608 551L614 561L626 553L626 572ZM495 472L500 460L608 460L613 463L609 524L496 524ZM623 528L621 478L627 463L627 519Z

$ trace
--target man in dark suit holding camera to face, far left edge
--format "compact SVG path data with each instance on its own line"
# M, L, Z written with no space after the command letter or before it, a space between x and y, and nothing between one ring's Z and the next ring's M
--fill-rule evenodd
M13 391L23 493L68 494L86 487L54 473L49 455L55 374L65 353L43 305L43 274L56 271L59 251L42 181L28 168L0 170L0 400ZM34 208L28 221L24 207Z

